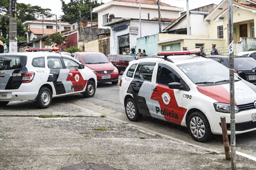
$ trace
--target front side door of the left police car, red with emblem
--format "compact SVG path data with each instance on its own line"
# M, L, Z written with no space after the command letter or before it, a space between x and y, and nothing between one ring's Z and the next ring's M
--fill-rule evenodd
M79 69L79 63L70 58L63 57L63 62L68 73L65 80L67 93L83 91L87 83L85 69Z

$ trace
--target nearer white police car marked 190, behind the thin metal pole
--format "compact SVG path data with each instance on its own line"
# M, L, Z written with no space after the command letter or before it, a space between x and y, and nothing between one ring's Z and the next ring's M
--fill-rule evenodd
M146 115L186 126L193 139L203 142L222 134L220 117L225 116L230 134L229 70L192 53L198 51L161 52L166 57L129 63L120 101L130 121ZM235 103L236 134L256 130L256 86L237 75Z

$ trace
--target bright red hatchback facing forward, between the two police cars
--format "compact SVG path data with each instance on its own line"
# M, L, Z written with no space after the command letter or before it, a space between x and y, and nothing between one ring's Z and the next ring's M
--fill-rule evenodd
M98 82L118 83L118 69L108 60L103 53L76 52L72 55L85 66L95 71Z

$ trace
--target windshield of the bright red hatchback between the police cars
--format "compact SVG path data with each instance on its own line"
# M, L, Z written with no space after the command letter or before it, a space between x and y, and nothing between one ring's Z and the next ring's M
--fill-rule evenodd
M108 58L103 54L82 55L85 64L103 64L109 63Z

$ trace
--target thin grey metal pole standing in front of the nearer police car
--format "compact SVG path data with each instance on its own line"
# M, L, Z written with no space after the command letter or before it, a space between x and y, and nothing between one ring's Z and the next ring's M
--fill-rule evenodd
M229 79L230 79L230 145L231 169L236 170L236 116L235 116L235 91L234 91L234 40L233 40L233 2L228 0L228 53L229 53Z

